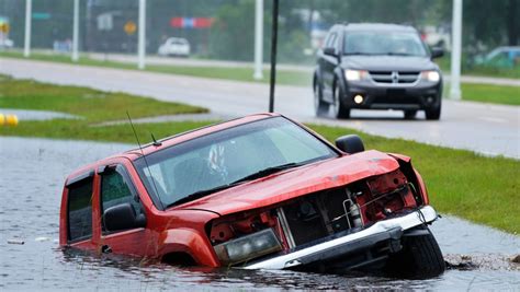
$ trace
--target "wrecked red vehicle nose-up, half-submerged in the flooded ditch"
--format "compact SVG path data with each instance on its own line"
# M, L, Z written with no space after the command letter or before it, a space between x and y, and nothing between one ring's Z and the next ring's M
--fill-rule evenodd
M410 159L259 114L106 157L66 180L60 245L173 265L444 271Z

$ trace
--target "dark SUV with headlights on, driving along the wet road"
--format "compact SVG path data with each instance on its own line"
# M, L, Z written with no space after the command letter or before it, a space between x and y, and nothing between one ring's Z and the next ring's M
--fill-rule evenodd
M314 73L316 115L332 107L337 118L351 108L418 110L427 119L441 116L442 75L432 62L441 48L422 43L411 26L337 24L325 39Z

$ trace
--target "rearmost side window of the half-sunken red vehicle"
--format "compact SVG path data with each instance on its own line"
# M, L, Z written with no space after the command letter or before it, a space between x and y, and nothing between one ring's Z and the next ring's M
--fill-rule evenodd
M68 186L68 240L87 240L92 235L92 177Z

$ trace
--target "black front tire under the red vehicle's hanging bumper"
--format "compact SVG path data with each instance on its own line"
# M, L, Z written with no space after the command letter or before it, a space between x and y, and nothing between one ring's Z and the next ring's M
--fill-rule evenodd
M393 276L425 279L439 276L445 270L436 237L426 226L427 235L403 237L403 249L388 259L387 271Z

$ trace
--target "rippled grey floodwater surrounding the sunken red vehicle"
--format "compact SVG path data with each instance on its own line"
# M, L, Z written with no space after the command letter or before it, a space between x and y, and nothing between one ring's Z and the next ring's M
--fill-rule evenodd
M66 175L129 148L133 145L0 137L1 290L520 289L520 265L510 261L520 254L520 237L453 217L443 217L432 226L452 268L429 280L181 269L59 249L58 213Z

